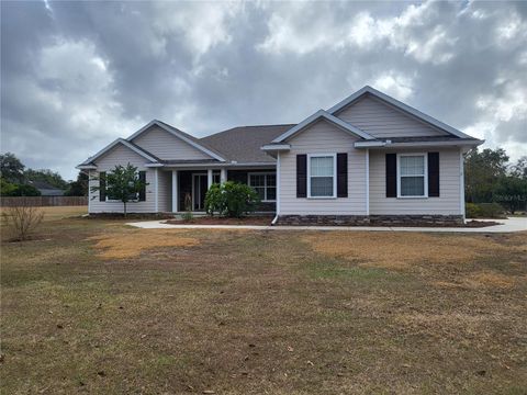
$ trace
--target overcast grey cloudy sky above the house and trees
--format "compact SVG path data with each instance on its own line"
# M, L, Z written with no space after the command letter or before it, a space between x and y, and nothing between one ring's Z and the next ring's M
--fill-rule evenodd
M153 119L295 123L371 84L527 154L527 2L1 2L1 151L74 178Z

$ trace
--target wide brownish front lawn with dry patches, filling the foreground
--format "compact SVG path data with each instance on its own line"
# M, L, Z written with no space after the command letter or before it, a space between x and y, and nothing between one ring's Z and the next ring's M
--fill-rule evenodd
M48 212L35 239L2 241L2 394L527 392L525 233L145 230Z

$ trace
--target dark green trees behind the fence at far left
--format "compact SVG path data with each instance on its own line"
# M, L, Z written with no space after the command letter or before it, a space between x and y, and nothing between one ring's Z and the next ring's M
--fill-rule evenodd
M66 181L49 169L31 169L12 153L0 154L0 195L40 196L41 191L33 185L36 181L64 191L65 196L87 196L88 176L79 171L77 180Z

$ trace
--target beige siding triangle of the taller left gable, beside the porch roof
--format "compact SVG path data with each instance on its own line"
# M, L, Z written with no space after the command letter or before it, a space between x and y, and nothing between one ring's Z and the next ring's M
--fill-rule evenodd
M132 143L160 159L211 159L209 155L160 127L152 127L134 138Z

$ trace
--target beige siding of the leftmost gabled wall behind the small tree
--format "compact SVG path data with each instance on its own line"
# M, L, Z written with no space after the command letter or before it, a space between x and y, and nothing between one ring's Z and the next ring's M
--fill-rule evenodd
M116 165L126 166L132 163L137 167L137 170L146 170L146 200L144 202L131 202L127 204L128 213L154 213L155 210L155 200L154 200L154 185L155 177L154 169L145 168L145 163L148 162L145 158L137 155L130 148L123 145L116 145L105 155L100 157L96 165L97 171L90 171L90 188L92 185L99 185L99 181L91 180L92 177L98 177L100 171L112 171ZM122 213L123 203L121 202L100 202L99 192L89 192L89 212L90 213Z

